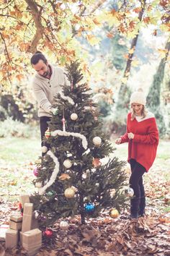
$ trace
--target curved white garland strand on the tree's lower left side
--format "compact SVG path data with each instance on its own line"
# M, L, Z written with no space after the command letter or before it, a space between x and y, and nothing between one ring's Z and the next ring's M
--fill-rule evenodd
M38 192L40 195L43 195L45 190L55 182L55 179L57 178L57 175L58 175L59 166L60 166L58 162L58 158L56 158L55 155L50 150L48 150L47 154L50 155L51 158L53 158L53 161L55 163L55 168L53 170L53 174L50 176L48 183L45 184L44 187L41 187L40 189L38 189Z

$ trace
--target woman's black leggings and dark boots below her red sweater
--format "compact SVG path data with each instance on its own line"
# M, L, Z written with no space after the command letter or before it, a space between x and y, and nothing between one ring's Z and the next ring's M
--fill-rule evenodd
M131 213L133 214L144 214L146 199L145 189L143 186L143 174L146 172L146 168L135 159L130 159L130 167L132 174L130 176L130 187L133 188L134 196L131 200Z

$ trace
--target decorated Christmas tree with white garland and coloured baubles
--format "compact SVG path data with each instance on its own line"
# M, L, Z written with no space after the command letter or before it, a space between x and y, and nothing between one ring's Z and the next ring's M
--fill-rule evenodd
M120 210L125 202L124 162L109 158L114 148L102 133L97 105L86 83L79 62L66 66L70 85L55 97L55 108L42 147L45 155L35 170L32 195L35 213L40 224L50 226L58 218L97 217L102 210ZM107 163L102 158L108 157ZM42 221L42 222L41 222Z

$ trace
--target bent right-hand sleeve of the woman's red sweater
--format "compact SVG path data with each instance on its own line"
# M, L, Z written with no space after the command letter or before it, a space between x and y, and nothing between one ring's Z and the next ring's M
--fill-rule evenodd
M153 118L148 127L147 135L134 135L133 142L140 142L144 144L154 144L158 142L158 128L156 126L156 119Z

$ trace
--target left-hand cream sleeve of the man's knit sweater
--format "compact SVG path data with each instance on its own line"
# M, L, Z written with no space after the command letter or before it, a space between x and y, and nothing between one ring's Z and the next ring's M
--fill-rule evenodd
M40 106L40 108L44 109L45 112L48 112L50 114L50 112L52 111L52 105L50 101L48 101L48 98L46 97L42 88L39 85L34 84L33 90L38 106Z

